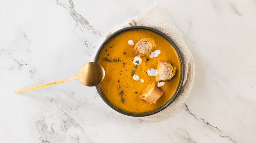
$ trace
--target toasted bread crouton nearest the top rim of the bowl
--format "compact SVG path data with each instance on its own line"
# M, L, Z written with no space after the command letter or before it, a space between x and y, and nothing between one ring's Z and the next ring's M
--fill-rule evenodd
M154 40L150 38L144 38L139 40L133 48L135 56L149 56L150 53L156 49L156 44Z

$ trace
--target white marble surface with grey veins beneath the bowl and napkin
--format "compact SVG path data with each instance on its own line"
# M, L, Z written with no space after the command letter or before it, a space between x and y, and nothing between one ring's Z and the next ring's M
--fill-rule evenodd
M3 143L256 141L256 1L157 1L195 59L194 87L162 122L117 113L70 81L100 37L153 0L0 1L0 138Z

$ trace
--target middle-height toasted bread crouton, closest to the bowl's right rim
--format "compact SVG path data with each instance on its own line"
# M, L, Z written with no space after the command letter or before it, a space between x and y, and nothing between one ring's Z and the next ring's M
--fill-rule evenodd
M157 82L170 80L176 73L176 67L172 66L168 61L159 61L157 64Z

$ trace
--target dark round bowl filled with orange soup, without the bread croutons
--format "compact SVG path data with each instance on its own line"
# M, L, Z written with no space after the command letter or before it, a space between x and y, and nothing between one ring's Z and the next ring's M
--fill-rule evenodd
M137 60L134 46L145 38L154 40L156 49ZM136 61L140 61L139 64ZM156 83L156 77L149 74L151 69L157 69L159 61L168 61L177 68L164 85ZM128 116L143 117L160 112L175 100L183 84L184 63L178 47L167 35L150 27L132 26L113 33L99 47L94 62L105 70L105 78L96 86L100 97L112 109ZM155 103L147 103L141 95L152 83L158 85L163 94Z

